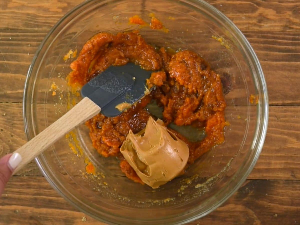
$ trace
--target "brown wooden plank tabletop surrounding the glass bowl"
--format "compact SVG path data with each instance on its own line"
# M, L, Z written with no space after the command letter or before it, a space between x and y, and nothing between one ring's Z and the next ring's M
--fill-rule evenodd
M52 26L81 0L0 1L0 156L26 143L22 98L32 58ZM262 64L270 115L247 182L192 224L300 223L300 0L209 0L246 35ZM86 218L86 222L83 222ZM67 203L35 162L14 176L0 224L100 224Z

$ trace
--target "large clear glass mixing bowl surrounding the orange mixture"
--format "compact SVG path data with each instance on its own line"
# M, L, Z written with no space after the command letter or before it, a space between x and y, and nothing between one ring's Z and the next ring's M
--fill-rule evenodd
M92 147L85 125L36 159L61 196L106 223L180 224L207 215L245 181L265 140L268 95L259 61L238 28L199 0L85 1L67 13L46 36L29 68L24 92L28 139L80 101L66 82L74 59L65 61L64 55L71 49L79 52L98 32L139 29L128 19L139 15L149 21L149 13L169 32L141 28L148 43L193 50L225 78L225 116L230 126L225 128L222 145L199 158L183 176L155 190L127 179L116 158L102 158ZM85 172L89 162L95 165L95 174Z

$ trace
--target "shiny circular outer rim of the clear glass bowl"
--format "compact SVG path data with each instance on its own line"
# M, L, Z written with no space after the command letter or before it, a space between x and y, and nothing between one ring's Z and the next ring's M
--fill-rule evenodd
M46 35L46 37L44 38L44 40L42 41L41 45L38 47L35 56L32 60L32 63L29 67L28 73L27 73L27 77L26 77L26 82L25 82L25 88L24 88L24 95L23 95L23 119L24 119L24 127L25 127L25 133L26 133L26 137L28 140L31 140L34 136L32 136L32 134L30 134L31 132L29 131L29 127L30 127L30 119L27 118L27 114L28 114L28 108L32 109L32 99L28 98L29 96L29 83L30 80L32 79L32 76L34 76L35 74L33 74L33 68L35 67L36 61L38 59L38 57L40 56L41 50L44 47L44 44L46 43L46 41L51 37L51 35L53 34L53 32L58 28L58 26L65 21L70 15L72 15L73 13L75 13L77 10L81 9L82 7L84 7L85 5L90 4L91 2L93 2L94 0L88 0L88 1L84 1L81 4L77 5L76 7L74 7L72 10L70 10L68 13L66 13L56 24L55 26L52 27L52 29L49 31L49 33ZM106 0L100 0L98 2L105 2ZM169 1L169 0L167 0ZM218 19L220 19L222 22L225 22L228 24L227 29L230 27L230 29L232 29L235 33L235 35L239 38L239 40L241 40L241 43L244 45L245 49L248 51L247 53L250 56L251 61L253 62L253 67L255 70L251 69L252 71L256 71L256 76L258 79L258 84L260 86L259 90L262 93L259 93L260 95L260 101L258 104L258 108L259 108L259 119L257 119L256 121L256 132L255 135L257 137L256 140L256 145L253 146L254 149L257 149L255 155L253 156L253 159L251 161L251 164L249 167L247 167L247 170L245 168L243 168L243 176L239 179L239 182L237 185L235 185L234 188L231 188L231 190L229 190L229 192L227 193L227 195L224 195L218 202L217 204L213 205L212 207L210 207L207 211L205 211L204 213L202 213L201 215L194 215L192 217L188 217L184 220L181 220L179 222L176 222L175 224L181 224L181 223L188 223L191 222L193 220L199 219L201 217L206 216L207 214L209 214L210 212L214 211L216 208L218 208L220 205L222 205L227 199L229 199L229 197L231 197L237 190L239 187L241 187L241 185L244 183L244 181L247 179L247 177L249 176L249 174L252 172L253 167L255 166L259 155L262 151L262 147L265 141L265 137L266 137L266 133L267 133L267 126L268 126L268 113L269 113L269 106L268 106L268 91L267 91L267 85L265 82L265 78L264 78L264 74L262 71L262 67L259 63L259 60L252 48L252 46L250 45L250 43L248 42L248 40L246 39L246 37L242 34L242 32L235 26L235 24L228 19L223 13L221 13L219 10L217 10L215 7L211 6L210 4L208 4L207 2L203 1L203 0L187 0L189 3L195 3L197 5L202 5L203 7L205 7L207 10L210 11L210 13L213 13L214 16L216 16ZM253 76L252 72L252 76ZM29 101L31 101L31 104L28 104L28 99ZM30 105L30 106L29 106ZM259 121L262 122L262 124L259 124ZM259 126L260 125L260 126ZM106 222L106 223L112 223L110 220L104 219L104 218L100 218L92 213L90 213L88 210L85 210L81 207L79 207L76 204L76 198L73 196L73 200L71 200L65 193L64 191L61 190L61 188L64 188L63 185L59 185L60 187L57 186L57 184L55 182L53 182L53 180L50 178L49 174L44 170L43 167L43 160L44 156L38 156L37 158L35 158L36 163L38 164L38 167L40 168L41 172L43 173L44 177L46 178L46 180L51 184L51 186L64 198L67 200L67 202L69 202L71 205L73 205L74 207L76 207L77 209L79 209L80 211L82 211L83 213L98 219L100 221ZM228 188L228 185L226 185L226 187ZM218 192L220 193L220 191ZM185 216L186 217L186 216ZM132 222L132 221L131 221ZM140 221L140 222L149 222L149 221ZM159 222L157 220L152 220L152 222ZM174 224L174 223L173 223Z

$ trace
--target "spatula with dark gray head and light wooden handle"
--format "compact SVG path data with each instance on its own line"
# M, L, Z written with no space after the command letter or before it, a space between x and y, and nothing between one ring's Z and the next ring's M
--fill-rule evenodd
M128 63L125 66L109 67L91 79L83 86L83 99L75 107L15 151L22 156L22 162L13 174L88 119L100 112L108 117L118 116L122 112L116 109L117 105L124 102L134 104L143 98L146 79L150 78L152 72Z

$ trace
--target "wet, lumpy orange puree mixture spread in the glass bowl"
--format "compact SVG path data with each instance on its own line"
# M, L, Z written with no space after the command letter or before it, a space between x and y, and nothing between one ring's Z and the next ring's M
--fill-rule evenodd
M83 46L73 70L68 75L68 84L81 88L94 76L110 66L122 66L128 62L153 70L147 87L156 88L126 112L114 118L102 114L86 122L90 129L93 146L104 157L118 157L122 172L131 180L144 184L135 170L125 160L120 147L129 131L137 134L146 128L152 116L146 106L156 101L163 108L164 126L191 125L205 129L205 138L190 142L186 137L168 128L189 148L187 168L214 146L224 142L224 118L226 102L220 76L197 53L183 50L170 53L164 47L158 51L139 35L138 31L99 33Z

